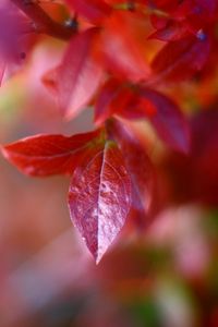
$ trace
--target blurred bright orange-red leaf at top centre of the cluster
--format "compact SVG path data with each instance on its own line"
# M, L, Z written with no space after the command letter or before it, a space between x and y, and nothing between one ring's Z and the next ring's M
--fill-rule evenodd
M147 80L150 73L140 23L141 19L129 12L116 12L105 22L98 43L98 56L106 69L118 78L140 82Z

